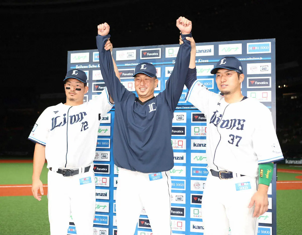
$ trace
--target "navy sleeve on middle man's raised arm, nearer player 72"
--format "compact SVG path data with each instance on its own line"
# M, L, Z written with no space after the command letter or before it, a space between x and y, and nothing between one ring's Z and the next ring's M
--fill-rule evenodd
M104 46L110 34L106 36L98 35L96 36L96 44L98 47L99 53L99 61L100 61L100 68L101 74L103 76L105 85L108 89L108 93L114 100L114 103L121 101L124 97L130 93L124 85L120 82L114 72L113 61L111 57L110 50L105 50Z

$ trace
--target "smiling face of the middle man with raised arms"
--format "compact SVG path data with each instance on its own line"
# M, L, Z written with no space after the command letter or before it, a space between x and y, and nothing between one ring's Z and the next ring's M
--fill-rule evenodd
M134 77L134 86L140 101L146 100L154 96L154 89L157 87L158 79L149 77L144 73L138 73Z

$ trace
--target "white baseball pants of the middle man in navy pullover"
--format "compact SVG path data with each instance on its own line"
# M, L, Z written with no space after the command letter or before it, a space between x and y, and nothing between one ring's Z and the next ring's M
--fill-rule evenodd
M171 235L170 195L169 171L152 174L119 168L116 191L118 235L134 234L142 207L146 210L153 235Z

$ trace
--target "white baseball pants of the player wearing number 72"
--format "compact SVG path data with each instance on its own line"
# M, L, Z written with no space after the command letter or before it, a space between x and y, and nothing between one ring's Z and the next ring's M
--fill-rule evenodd
M96 201L93 165L88 172L73 176L49 171L47 198L51 235L67 234L70 215L77 235L93 234Z

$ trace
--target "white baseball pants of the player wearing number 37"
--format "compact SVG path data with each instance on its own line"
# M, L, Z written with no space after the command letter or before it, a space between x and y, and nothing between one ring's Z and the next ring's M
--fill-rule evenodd
M219 179L209 171L202 196L204 235L257 235L258 218L249 202L257 191L256 177Z

